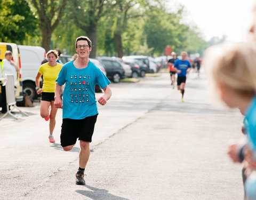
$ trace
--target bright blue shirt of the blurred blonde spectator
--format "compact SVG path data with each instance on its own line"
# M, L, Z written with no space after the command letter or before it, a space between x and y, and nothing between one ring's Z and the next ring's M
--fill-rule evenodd
M247 123L245 124L246 135L250 148L256 152L256 95L245 115Z

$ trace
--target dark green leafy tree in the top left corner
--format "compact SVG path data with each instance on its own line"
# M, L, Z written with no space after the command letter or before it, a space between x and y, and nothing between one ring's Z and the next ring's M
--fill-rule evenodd
M37 20L26 1L2 1L0 10L0 40L2 42L22 43L26 34L35 35Z

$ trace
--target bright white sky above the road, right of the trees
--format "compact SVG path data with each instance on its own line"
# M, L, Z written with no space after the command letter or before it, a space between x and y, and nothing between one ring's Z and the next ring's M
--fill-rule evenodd
M172 0L169 6L175 10L178 4L185 5L185 22L199 27L207 41L226 35L229 41L245 42L256 0Z

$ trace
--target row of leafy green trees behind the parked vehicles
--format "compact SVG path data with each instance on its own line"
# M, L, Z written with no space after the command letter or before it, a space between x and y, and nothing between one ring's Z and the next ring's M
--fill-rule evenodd
M182 22L182 6L170 12L162 0L4 0L0 8L1 41L70 55L81 35L92 40L92 57L157 56L166 45L177 53L202 53L209 45L196 26Z

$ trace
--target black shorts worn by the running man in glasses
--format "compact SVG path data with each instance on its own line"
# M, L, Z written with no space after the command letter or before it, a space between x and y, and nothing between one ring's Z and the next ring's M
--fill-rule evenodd
M84 119L62 119L60 144L62 147L74 145L76 140L86 142L92 141L94 125L97 121L97 115L85 117Z

